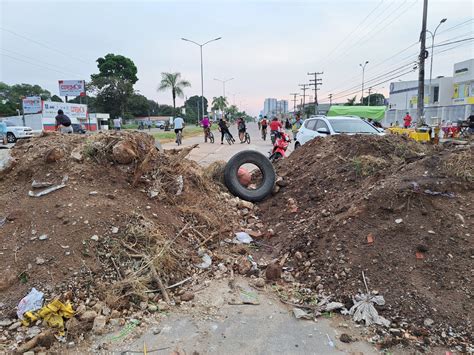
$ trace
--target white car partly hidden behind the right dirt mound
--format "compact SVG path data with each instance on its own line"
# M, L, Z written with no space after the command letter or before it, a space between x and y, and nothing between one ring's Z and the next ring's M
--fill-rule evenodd
M316 137L334 134L383 135L367 121L355 116L315 116L306 119L296 134L295 149Z

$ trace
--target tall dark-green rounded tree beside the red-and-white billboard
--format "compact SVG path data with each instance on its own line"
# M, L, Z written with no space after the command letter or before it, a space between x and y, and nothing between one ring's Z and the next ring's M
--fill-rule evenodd
M98 74L91 75L90 90L97 95L96 109L112 117L124 115L128 99L138 81L137 67L122 55L107 54L97 59Z

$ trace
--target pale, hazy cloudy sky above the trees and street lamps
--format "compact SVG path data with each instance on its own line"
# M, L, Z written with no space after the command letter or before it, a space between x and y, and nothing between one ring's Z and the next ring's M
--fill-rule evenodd
M474 2L429 0L428 29L435 44L474 37ZM285 99L323 72L320 103L345 102L365 87L388 95L390 81L414 80L423 0L313 1L6 1L0 0L0 81L38 84L58 94L58 80L97 73L107 53L131 58L138 68L135 89L160 104L162 72L189 80L187 97L200 95L199 43L203 47L204 96L223 94L257 115L267 97ZM427 45L431 45L428 36ZM474 58L474 42L435 49L433 77L452 76L453 64ZM427 63L429 75L429 60ZM313 100L314 92L307 91ZM367 93L365 93L366 95ZM298 98L300 100L300 98ZM181 104L183 99L178 100Z

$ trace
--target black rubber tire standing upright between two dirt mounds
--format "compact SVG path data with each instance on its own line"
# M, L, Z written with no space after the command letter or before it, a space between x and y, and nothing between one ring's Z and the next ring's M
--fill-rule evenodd
M237 178L239 168L244 164L254 164L262 172L262 184L255 190L242 186ZM230 158L224 168L224 182L229 191L242 200L258 202L272 193L276 181L276 173L268 158L255 150L243 150Z

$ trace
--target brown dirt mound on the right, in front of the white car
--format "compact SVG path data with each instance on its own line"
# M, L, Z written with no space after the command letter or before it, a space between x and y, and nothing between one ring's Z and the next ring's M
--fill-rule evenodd
M315 139L278 166L280 192L259 207L296 303L369 289L386 304L385 345L413 340L468 351L472 338L474 151L399 136Z

